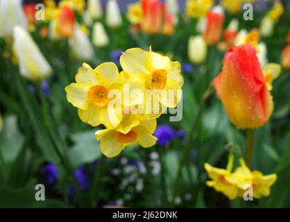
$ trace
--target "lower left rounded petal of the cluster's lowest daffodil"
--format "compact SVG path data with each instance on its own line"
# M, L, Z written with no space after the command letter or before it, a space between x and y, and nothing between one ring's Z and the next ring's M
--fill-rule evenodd
M96 132L98 135L98 131ZM123 144L117 140L117 131L108 130L101 136L101 152L106 157L115 157L123 151Z

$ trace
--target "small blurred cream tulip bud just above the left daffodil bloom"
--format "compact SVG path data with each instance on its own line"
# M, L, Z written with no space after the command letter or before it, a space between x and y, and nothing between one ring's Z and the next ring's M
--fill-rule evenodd
M105 28L101 22L96 22L93 27L92 42L94 46L104 47L110 43L109 37L105 32Z

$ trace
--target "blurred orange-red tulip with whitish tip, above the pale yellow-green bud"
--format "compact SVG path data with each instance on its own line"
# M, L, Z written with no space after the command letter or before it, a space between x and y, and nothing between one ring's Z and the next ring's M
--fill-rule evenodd
M221 6L215 6L212 10L207 12L207 24L205 33L203 33L203 37L207 44L212 45L219 42L223 31L224 19L225 15L223 15L223 8L221 8Z

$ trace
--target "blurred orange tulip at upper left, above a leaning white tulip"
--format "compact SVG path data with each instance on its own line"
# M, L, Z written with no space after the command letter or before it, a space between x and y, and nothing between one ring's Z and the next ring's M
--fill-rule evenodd
M74 11L68 6L62 7L58 16L58 33L62 37L71 37L74 34L76 18Z

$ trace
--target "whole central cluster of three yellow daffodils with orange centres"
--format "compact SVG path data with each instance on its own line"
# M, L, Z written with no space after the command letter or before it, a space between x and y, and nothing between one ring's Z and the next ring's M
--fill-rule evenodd
M83 63L76 83L65 88L67 100L78 108L83 122L105 126L96 131L96 139L101 140L101 151L107 157L133 144L153 146L156 119L167 108L176 108L182 97L179 62L151 48L133 48L121 55L120 64L121 73L113 62L95 69Z

